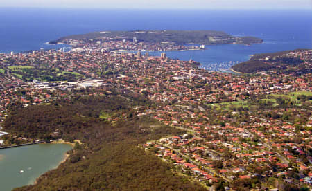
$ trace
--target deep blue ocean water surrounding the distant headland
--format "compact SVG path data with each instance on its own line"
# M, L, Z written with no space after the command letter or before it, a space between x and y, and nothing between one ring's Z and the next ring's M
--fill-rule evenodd
M207 46L205 51L172 51L168 57L202 66L245 61L254 53L311 48L309 10L100 10L0 8L0 53L39 48L65 35L104 30L222 30L264 40L252 46ZM159 52L150 53L160 55Z

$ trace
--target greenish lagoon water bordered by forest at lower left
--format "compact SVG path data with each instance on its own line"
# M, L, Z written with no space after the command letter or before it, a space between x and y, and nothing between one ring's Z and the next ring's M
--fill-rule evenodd
M70 149L72 146L69 144L37 144L0 149L1 190L35 183L41 174L58 167Z

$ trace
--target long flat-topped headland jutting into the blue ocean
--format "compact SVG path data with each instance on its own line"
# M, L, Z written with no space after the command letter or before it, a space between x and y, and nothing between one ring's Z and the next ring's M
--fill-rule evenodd
M49 44L70 44L79 46L86 43L103 44L105 42L119 43L120 48L137 51L130 42L143 45L141 49L148 51L171 51L190 49L186 44L259 44L263 40L257 37L235 37L214 30L134 30L134 31L102 31L83 35L70 35L49 42ZM164 47L159 47L162 44ZM165 46L166 45L166 46ZM139 46L136 46L139 49ZM155 48L156 47L156 48ZM194 48L194 47L191 47Z

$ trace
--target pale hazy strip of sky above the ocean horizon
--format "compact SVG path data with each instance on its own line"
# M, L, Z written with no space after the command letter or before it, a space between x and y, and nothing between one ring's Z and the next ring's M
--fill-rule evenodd
M311 9L312 0L5 0L0 7L128 9Z

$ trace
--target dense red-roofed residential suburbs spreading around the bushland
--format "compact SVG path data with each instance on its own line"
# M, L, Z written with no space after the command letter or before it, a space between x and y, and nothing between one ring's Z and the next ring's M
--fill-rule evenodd
M171 129L157 139L136 143L135 149L157 156L171 172L202 188L311 189L311 50L258 58L270 64L278 60L279 65L239 75L207 71L193 60L173 60L165 54L152 57L113 51L125 46L134 51L184 49L182 46L125 41L73 43L83 46L69 52L0 54L0 147L73 139L69 129L62 128L64 122L49 127L45 134L37 134L35 129L24 131L12 118L18 116L15 112L19 109L56 108L81 101L80 97L141 99L144 101L127 108L118 107L122 109L115 109L115 113L114 109L94 109L89 116L111 125L150 118ZM288 63L285 57L299 64ZM138 126L143 134L155 133L155 125L147 129ZM30 128L27 124L24 127ZM86 137L75 138L87 142Z

